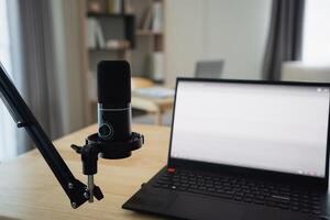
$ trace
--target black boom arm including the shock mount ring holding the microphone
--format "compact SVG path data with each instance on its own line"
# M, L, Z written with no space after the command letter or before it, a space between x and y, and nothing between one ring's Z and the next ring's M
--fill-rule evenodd
M63 161L52 141L48 139L23 98L6 74L0 63L0 96L11 113L18 128L24 128L35 143L40 153L51 167L62 188L70 199L74 209L85 201L94 201L103 198L102 191L94 185L94 175L97 173L97 161L99 154L107 155L107 158L125 158L131 152L140 148L144 143L143 135L132 132L130 140L125 142L111 143L102 141L98 134L91 134L86 140L86 145L72 147L81 154L82 173L88 175L88 186L75 178L66 163Z

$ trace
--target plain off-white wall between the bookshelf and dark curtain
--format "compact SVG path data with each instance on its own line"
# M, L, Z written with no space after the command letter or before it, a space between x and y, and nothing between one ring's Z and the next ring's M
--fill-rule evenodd
M271 0L167 0L166 82L198 59L224 59L222 78L260 79Z

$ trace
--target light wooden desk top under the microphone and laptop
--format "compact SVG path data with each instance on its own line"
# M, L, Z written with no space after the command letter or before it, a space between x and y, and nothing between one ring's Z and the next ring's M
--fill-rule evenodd
M145 145L127 160L99 160L95 182L105 198L76 210L36 150L1 164L0 219L160 219L123 210L121 206L166 164L169 129L138 124L133 129L145 135ZM96 130L92 125L54 142L75 176L84 183L80 156L69 146L82 144Z

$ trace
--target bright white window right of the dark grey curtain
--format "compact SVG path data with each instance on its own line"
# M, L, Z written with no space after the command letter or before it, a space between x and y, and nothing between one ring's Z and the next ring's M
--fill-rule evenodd
M330 65L330 1L307 0L302 61L312 65Z

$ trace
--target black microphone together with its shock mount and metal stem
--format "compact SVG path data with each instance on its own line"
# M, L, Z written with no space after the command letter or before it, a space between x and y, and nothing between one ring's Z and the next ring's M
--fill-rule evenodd
M88 176L90 202L101 199L102 193L95 187L94 175L98 172L98 157L127 158L132 151L144 144L143 134L131 131L131 68L125 61L102 61L98 64L98 133L87 136L84 146L72 145L81 154L82 173ZM86 195L85 195L86 194Z

